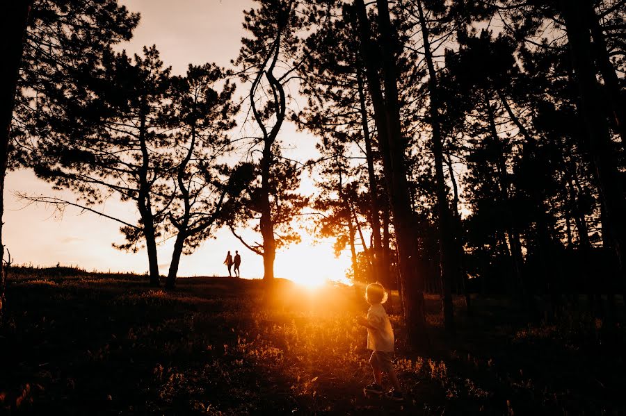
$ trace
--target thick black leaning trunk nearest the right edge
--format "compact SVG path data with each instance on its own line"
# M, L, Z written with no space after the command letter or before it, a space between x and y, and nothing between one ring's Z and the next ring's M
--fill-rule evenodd
M589 153L600 187L613 249L619 260L622 285L626 282L626 201L613 155L607 119L602 113L600 85L597 83L591 52L590 28L586 19L586 0L560 0L568 34L570 60L575 73L579 99L577 110L586 134L582 148Z

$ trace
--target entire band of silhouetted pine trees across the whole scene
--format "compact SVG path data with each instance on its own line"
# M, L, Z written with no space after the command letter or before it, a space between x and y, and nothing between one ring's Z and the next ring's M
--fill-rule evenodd
M120 248L145 244L153 283L160 236L176 235L172 287L180 254L221 225L271 282L308 207L319 237L349 247L356 281L399 290L417 348L426 291L449 331L453 292L468 309L470 292L524 306L624 292L626 2L256 0L233 62L258 134L241 139L250 157L236 167L218 163L239 111L231 73L177 77L155 48L113 53L138 16L88 3L12 3L0 167L31 166L83 208L113 193L134 203ZM46 29L90 14L102 27L82 38ZM319 137L319 158L283 156L287 122ZM315 195L298 193L304 169Z

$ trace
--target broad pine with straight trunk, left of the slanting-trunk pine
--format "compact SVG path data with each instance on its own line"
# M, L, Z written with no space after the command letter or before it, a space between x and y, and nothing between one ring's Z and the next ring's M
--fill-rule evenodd
M118 219L127 242L114 247L136 252L144 242L150 282L159 285L157 238L173 200L173 162L163 153L171 140L166 115L172 83L157 49L143 54L131 60L109 53L97 76L51 97L38 117L47 129L30 163L38 177L76 192L83 206L113 193L134 201L138 223Z

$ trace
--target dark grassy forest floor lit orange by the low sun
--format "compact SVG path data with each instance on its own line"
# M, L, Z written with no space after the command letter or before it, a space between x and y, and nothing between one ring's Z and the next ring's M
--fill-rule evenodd
M261 281L182 278L168 293L130 275L14 276L0 414L626 414L623 325L579 311L529 324L510 301L476 297L472 317L456 299L452 336L428 296L427 356L391 315L396 403L362 394L362 290L277 286L268 306Z

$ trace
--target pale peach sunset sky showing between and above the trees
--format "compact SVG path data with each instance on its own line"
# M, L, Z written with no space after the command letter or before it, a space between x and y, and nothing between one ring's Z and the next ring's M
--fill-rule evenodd
M230 65L239 53L240 40L245 35L243 9L252 6L251 0L120 0L129 10L141 13L141 22L131 42L120 49L139 53L144 45L156 44L165 65L172 72L183 74L189 63L215 62ZM239 85L239 88L244 87ZM236 131L233 133L236 135ZM314 138L296 132L287 124L280 137L291 147L290 157L304 160L314 156ZM306 175L306 174L305 174ZM311 179L303 178L304 188L311 190ZM62 218L55 217L52 208L26 206L17 201L12 192L52 195L50 185L29 171L11 172L6 178L4 242L16 264L42 266L77 265L89 271L136 272L147 270L145 251L125 253L111 247L112 242L123 242L117 223L91 213L80 213L67 208ZM69 192L62 193L71 199ZM136 218L131 204L111 199L99 207L105 213L126 219ZM179 276L223 276L222 264L226 251L239 250L242 257L242 277L262 277L262 258L230 234L219 231L216 240L207 240L191 256L183 256ZM259 236L260 238L260 236ZM257 238L258 240L258 238ZM159 248L161 274L167 274L173 240ZM320 281L326 278L342 280L349 266L347 254L335 259L332 241L312 245L303 232L303 243L277 253L275 275L294 281Z

